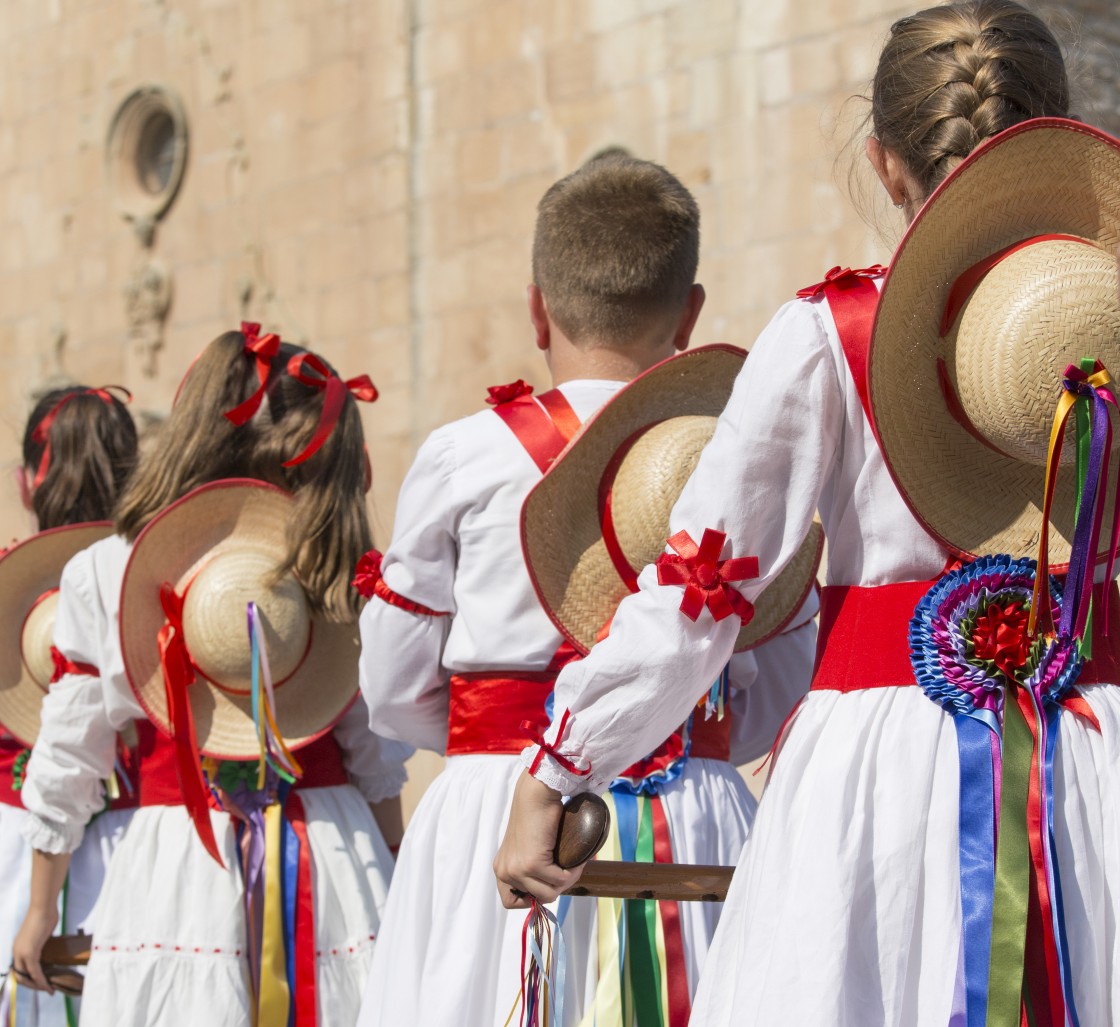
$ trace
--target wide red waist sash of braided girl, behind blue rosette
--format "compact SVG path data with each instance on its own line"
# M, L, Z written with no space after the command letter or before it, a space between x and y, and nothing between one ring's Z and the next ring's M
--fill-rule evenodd
M822 588L812 688L853 692L917 684L909 660L909 623L932 587L932 581L899 581ZM1120 683L1120 591L1112 582L1105 635L1099 610L1107 587L1093 586L1093 659L1077 684Z

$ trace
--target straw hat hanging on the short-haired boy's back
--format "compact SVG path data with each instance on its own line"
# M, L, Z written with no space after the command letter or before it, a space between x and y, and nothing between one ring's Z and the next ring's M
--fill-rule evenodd
M745 358L734 346L706 346L650 368L584 426L526 497L521 538L529 576L553 624L580 652L590 650L631 592L616 559L633 575L664 551L670 513ZM608 495L614 558L600 520ZM790 623L812 588L823 540L814 524L756 600L737 650L765 642Z

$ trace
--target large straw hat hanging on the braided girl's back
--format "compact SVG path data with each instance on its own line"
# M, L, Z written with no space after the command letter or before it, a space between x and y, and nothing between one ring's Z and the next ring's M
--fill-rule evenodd
M1074 239L983 263L1049 234ZM899 492L949 549L1036 554L1062 373L1091 356L1120 374L1118 242L1120 142L1058 119L1024 122L977 150L909 226L876 316L871 412ZM959 280L960 304L950 305ZM1067 439L1049 535L1060 569L1073 539L1074 448ZM1118 460L1113 447L1113 477Z

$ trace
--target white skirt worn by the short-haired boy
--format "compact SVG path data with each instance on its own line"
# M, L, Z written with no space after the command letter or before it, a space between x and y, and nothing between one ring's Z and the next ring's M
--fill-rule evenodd
M454 756L424 792L398 858L362 1027L505 1024L521 993L525 913L502 906L492 863L523 772L516 756ZM662 802L680 861L736 860L755 803L734 767L691 760ZM682 904L690 986L699 978L719 909ZM595 913L595 899L573 899L564 918L566 1023L557 1027L579 1024L590 1008L598 980Z

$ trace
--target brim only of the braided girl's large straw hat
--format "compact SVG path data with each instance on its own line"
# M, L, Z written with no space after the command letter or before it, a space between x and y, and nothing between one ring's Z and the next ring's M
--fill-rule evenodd
M942 183L907 230L883 286L868 361L875 428L914 515L961 555L1037 554L1044 468L993 451L953 418L939 382L937 360L949 343L939 323L960 274L1006 246L1051 233L1114 252L1120 143L1080 122L1039 119L996 137ZM1070 363L1102 356L1080 352L1075 333L1068 335ZM1004 385L1009 371L993 367L992 377ZM1120 447L1113 447L1110 477L1118 466ZM1070 558L1074 473L1063 464L1058 474L1049 535L1056 570Z

